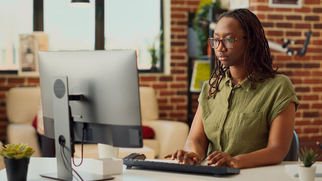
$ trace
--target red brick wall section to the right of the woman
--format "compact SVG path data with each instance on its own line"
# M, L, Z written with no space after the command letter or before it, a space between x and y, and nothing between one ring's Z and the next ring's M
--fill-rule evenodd
M312 31L306 54L287 56L272 51L273 63L291 79L300 107L295 131L301 139L322 140L322 1L303 0L301 9L269 8L268 0L250 0L250 8L260 18L269 40L295 40L290 48L300 51L308 30Z

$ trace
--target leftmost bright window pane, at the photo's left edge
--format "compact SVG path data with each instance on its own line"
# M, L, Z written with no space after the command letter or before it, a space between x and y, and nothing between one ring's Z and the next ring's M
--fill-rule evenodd
M0 1L0 70L18 70L19 34L33 31L33 0Z

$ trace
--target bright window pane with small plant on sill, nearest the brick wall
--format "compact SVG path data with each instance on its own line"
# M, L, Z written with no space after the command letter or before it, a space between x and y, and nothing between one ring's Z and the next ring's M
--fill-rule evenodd
M104 3L105 49L136 49L138 68L151 68L149 47L157 50L157 68L161 68L161 0L119 1Z

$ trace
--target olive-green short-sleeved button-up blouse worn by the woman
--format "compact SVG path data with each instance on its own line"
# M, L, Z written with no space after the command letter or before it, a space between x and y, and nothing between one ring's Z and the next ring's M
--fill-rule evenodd
M253 82L255 89L247 78L232 87L229 77L228 70L215 99L207 99L210 85L206 81L198 99L209 140L208 155L224 151L236 156L266 148L272 121L290 102L295 103L295 111L299 106L294 87L285 75Z

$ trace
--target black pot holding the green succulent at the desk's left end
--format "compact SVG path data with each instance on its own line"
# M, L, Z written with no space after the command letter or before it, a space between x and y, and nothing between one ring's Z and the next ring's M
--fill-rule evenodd
M9 181L27 180L29 160L30 158L22 158L22 159L5 158L7 179Z

